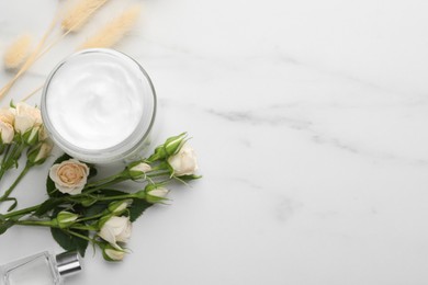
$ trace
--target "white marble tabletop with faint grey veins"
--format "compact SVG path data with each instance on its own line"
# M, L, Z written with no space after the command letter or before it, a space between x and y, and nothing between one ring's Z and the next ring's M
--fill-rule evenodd
M64 2L1 1L0 49L41 34ZM126 1L111 2L94 25ZM204 179L136 223L123 263L89 250L67 284L427 284L427 1L139 2L116 49L154 80L158 141L188 130ZM16 191L20 205L44 198L46 168ZM59 251L47 230L16 227L0 262L46 248Z

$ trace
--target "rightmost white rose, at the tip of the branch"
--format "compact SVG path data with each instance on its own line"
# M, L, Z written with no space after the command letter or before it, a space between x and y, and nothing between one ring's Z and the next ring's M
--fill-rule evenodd
M184 144L177 155L168 159L176 176L192 175L198 170L196 155L192 147Z

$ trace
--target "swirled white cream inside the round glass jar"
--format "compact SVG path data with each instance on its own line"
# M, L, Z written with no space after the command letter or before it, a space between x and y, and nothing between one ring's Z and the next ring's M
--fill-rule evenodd
M54 75L46 96L48 117L66 141L106 149L124 141L143 115L143 75L125 58L81 54Z

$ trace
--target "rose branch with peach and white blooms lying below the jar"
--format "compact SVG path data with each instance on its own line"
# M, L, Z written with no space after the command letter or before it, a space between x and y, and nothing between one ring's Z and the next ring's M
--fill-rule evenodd
M67 155L58 158L48 173L49 198L9 213L0 220L0 235L13 225L50 227L55 240L67 250L72 243L85 254L87 244L92 243L102 250L105 260L121 261L128 252L133 223L143 212L154 204L165 204L170 184L200 178L187 134L168 138L150 157L128 163L111 176L94 180L93 170L93 166ZM124 181L135 182L138 189L115 189Z

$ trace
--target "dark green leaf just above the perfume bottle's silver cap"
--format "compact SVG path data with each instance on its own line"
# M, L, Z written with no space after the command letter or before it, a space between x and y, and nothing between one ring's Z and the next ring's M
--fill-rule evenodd
M86 230L75 230L77 233L88 237ZM88 240L71 236L65 230L58 228L50 228L52 237L55 241L66 251L78 251L81 256L85 256L85 252L88 248Z

